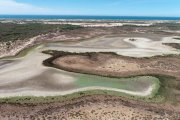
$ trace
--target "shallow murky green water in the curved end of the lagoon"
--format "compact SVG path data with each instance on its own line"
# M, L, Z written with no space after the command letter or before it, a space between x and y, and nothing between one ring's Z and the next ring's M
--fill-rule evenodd
M158 78L151 76L139 76L131 78L109 78L96 75L79 75L76 78L78 87L100 86L117 88L129 91L141 91L153 84L158 84Z

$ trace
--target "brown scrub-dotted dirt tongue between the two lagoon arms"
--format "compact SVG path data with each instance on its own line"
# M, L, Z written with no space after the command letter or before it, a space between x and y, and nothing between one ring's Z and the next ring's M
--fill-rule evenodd
M129 58L105 53L57 57L55 67L79 73L111 77L168 75L180 78L180 57Z

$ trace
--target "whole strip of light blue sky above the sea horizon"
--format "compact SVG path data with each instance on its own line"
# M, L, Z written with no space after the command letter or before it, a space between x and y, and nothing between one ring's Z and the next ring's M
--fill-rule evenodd
M180 17L180 0L0 0L0 14Z

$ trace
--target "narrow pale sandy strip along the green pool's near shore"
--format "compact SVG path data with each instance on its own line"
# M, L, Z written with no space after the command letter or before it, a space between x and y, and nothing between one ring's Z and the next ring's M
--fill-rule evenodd
M64 83L61 83L61 85L63 86ZM70 85L72 85L72 83ZM65 87L66 87L66 89L68 89L66 84L64 85L64 88ZM36 88L34 88L34 89L36 89ZM146 97L146 96L150 96L152 94L152 91L155 89L155 85L149 86L148 88L145 88L143 91L130 91L130 90L99 87L99 86L74 88L73 90L66 90L66 89L57 90L57 91L38 90L38 89L33 90L32 88L19 88L19 89L9 90L9 91L8 90L0 90L0 98L7 98L7 97L14 97L14 96L36 96L36 97L59 96L59 95L69 95L69 94L83 92L83 91L89 91L89 90L108 90L108 91L125 93L128 95Z

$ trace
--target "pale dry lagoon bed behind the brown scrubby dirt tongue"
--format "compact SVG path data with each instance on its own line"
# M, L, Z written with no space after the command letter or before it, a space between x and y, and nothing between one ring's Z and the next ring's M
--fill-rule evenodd
M68 52L115 52L119 55L130 57L152 57L156 55L180 54L180 51L163 43L178 43L173 39L177 36L164 37L161 39L149 39L140 37L100 37L72 44L52 44L50 49ZM131 41L134 39L134 41ZM112 42L110 42L112 41ZM51 47L52 46L52 47ZM93 49L92 49L93 48Z

